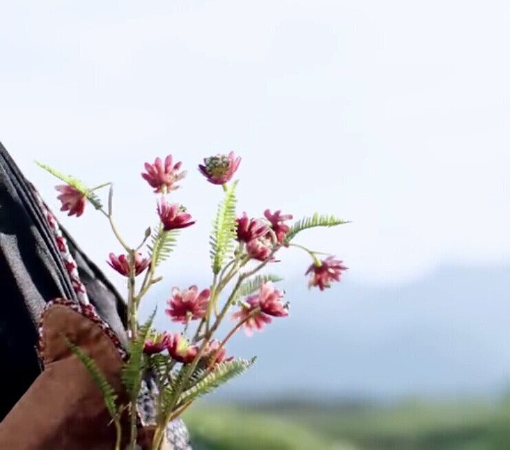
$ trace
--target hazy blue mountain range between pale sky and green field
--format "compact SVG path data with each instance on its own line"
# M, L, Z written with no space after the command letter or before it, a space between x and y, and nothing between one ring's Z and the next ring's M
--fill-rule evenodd
M232 341L232 354L260 357L216 398L488 394L510 379L510 266L443 267L392 287L348 277L323 293L301 278L285 287L292 317Z

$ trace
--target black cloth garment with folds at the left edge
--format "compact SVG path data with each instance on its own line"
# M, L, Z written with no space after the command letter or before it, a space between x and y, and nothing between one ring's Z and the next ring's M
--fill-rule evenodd
M125 342L125 303L63 231L98 314ZM0 420L41 373L38 321L47 301L77 301L30 183L0 143Z

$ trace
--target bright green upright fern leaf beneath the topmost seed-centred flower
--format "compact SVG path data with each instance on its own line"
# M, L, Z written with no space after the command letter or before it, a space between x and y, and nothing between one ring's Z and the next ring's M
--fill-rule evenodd
M237 181L226 191L226 195L217 209L211 234L211 260L213 272L218 274L222 269L226 255L233 251L233 239L236 237L235 222L235 188Z

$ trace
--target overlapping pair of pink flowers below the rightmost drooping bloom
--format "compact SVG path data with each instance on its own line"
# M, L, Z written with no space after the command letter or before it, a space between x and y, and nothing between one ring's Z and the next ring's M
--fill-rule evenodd
M246 305L233 314L233 319L244 321L244 330L248 336L254 330L262 331L266 324L271 323L273 317L286 317L286 306L280 303L283 294L276 290L273 283L261 283L259 294L251 295L246 299Z

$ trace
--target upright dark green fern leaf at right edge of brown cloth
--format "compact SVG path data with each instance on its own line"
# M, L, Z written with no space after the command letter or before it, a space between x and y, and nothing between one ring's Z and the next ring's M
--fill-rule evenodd
M122 381L129 393L129 396L131 397L138 394L138 389L140 389L140 384L142 383L142 378L145 372L143 347L145 347L145 341L147 341L147 336L149 336L149 332L151 331L155 315L156 310L153 311L147 322L138 329L136 338L133 343L131 343L131 348L129 349L129 359L123 366L121 374Z

